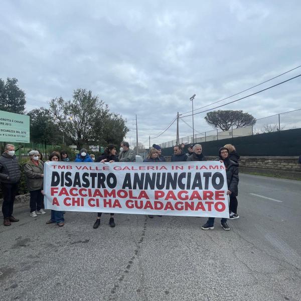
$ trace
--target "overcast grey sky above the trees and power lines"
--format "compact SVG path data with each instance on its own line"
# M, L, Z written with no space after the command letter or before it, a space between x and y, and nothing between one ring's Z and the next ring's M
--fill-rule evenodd
M300 11L298 0L2 0L0 78L19 80L27 111L90 89L127 119L131 142L137 114L139 140L148 146L148 135L191 110L193 94L197 109L301 65ZM221 109L255 118L299 109L300 87L301 77ZM196 131L211 129L204 116L195 115ZM184 120L192 126L191 116ZM190 134L180 121L180 137ZM151 143L175 138L176 123Z

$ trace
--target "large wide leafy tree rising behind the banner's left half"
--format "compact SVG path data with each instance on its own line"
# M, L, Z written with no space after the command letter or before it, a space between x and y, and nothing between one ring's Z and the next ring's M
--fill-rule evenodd
M78 148L84 144L120 143L128 131L125 120L110 113L108 106L86 89L75 90L72 100L52 99L50 112L59 129Z

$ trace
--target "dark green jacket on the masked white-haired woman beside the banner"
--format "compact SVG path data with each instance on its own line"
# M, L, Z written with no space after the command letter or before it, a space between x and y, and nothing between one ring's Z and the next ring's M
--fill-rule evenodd
M31 160L24 165L28 191L43 189L44 178L42 178L42 174L44 174L44 164L41 160L38 162L39 166L36 166Z

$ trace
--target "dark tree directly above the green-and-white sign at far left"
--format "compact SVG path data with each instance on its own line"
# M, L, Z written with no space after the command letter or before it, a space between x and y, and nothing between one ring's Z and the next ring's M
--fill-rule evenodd
M18 87L17 83L17 78L8 77L6 82L0 78L0 110L24 114L25 93Z

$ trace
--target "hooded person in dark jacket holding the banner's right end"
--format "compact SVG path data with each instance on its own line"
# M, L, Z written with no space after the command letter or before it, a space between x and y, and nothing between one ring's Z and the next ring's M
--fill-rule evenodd
M237 196L238 194L238 164L234 161L229 159L229 150L226 147L221 147L219 149L219 159L223 161L225 168L226 168L226 175L227 175L227 184L228 184L228 190L227 195L231 197L233 194L234 196ZM203 230L208 229L214 229L214 217L209 217L208 221L205 225L203 225L201 228ZM230 227L227 224L227 219L222 218L221 220L221 226L224 230L230 230Z

